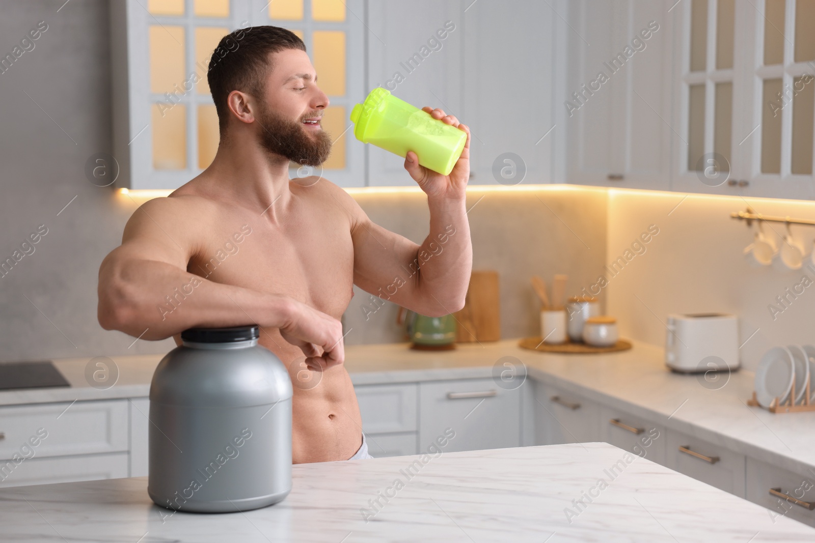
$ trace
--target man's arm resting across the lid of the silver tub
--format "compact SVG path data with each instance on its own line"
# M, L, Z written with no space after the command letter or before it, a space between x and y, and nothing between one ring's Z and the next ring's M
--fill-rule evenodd
M306 363L325 367L344 360L337 319L288 296L187 272L196 242L194 229L181 227L184 205L171 198L143 204L127 222L121 246L102 261L97 313L105 330L155 340L196 326L255 323L279 328L286 341L306 354ZM171 307L165 296L172 299L177 292L184 292L183 304L169 314L162 311L162 306Z

